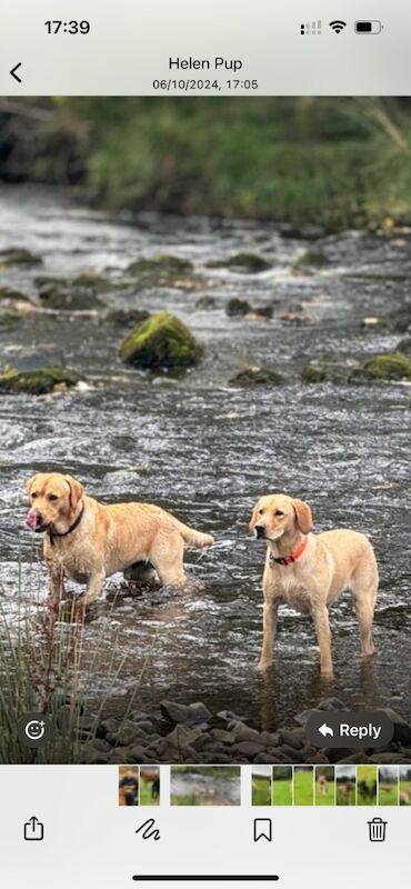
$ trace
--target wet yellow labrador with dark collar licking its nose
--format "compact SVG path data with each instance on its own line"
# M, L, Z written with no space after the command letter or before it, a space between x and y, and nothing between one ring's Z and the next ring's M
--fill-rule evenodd
M150 562L161 583L181 586L184 545L210 547L211 535L188 528L149 503L103 506L82 485L60 472L40 472L27 482L27 525L44 532L50 592L63 593L64 577L87 583L83 602L100 596L104 579L136 562Z

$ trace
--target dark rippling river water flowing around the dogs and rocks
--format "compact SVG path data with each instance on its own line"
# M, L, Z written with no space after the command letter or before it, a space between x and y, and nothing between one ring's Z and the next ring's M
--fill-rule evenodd
M163 698L202 700L213 711L230 708L265 728L292 722L325 693L353 707L390 703L410 717L410 387L307 386L297 378L308 359L324 353L364 358L394 349L395 318L411 316L410 234L323 238L315 249L329 264L292 274L292 263L312 244L269 224L154 214L117 220L79 208L58 191L3 187L0 249L9 247L42 258L40 269L1 271L1 286L34 300L39 274L72 278L93 270L116 277L141 256L192 260L202 280L196 292L152 288L103 299L170 309L207 350L201 366L183 378L153 377L119 362L126 329L102 322L99 312L37 312L16 326L0 323L2 366L66 363L89 383L53 398L0 400L0 591L10 621L18 600L43 609L46 572L36 557L38 541L24 527L21 495L33 472L57 469L102 500L152 501L217 538L204 553L187 552L196 581L187 591L137 595L121 587L121 578L108 581L108 605L86 628L86 695L108 695L120 711L130 693L141 709ZM207 266L241 250L264 257L272 268L250 274ZM214 307L197 308L207 294ZM229 318L224 307L233 296L273 302L273 319ZM375 316L389 326L363 326ZM291 382L230 386L244 363L275 366ZM285 607L275 665L263 679L253 671L264 549L249 536L248 521L257 498L271 490L307 499L317 531L349 526L375 547L378 657L361 665L344 595L331 612L331 686L319 681L310 619Z

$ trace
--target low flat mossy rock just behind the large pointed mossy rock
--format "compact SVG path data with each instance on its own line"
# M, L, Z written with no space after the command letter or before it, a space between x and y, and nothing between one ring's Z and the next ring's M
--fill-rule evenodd
M194 290L199 287L196 280L193 264L188 259L162 256L156 259L138 259L132 262L127 274L131 276L134 289L143 290L150 287L176 287L183 290Z

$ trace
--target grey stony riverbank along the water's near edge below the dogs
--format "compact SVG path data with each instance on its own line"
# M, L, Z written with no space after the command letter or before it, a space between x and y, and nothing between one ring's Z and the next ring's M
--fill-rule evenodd
M212 715L198 701L181 705L163 700L153 713L133 711L123 721L112 717L81 717L80 761L87 763L335 763L411 761L411 726L394 710L382 710L394 725L392 741L383 749L359 751L313 747L305 722L315 711L348 710L338 698L325 698L294 718L294 726L258 731L230 710Z

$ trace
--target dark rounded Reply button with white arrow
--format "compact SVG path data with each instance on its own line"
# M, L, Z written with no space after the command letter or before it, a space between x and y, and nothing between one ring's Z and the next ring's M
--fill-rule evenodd
M381 748L390 743L394 727L380 710L318 711L311 713L305 735L315 747Z

